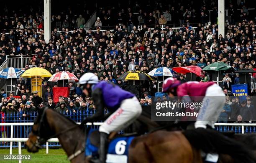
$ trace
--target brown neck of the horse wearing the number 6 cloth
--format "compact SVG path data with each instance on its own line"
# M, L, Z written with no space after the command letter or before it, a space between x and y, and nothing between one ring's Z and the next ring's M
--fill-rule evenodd
M47 110L47 121L51 127L51 130L58 134L67 130L68 128L74 127L77 125L66 117L60 115L53 110ZM61 147L65 150L68 156L77 152L82 148L82 145L85 143L85 134L79 127L76 127L72 130L68 130L57 136L59 138L59 143ZM72 162L84 162L84 153L81 153Z

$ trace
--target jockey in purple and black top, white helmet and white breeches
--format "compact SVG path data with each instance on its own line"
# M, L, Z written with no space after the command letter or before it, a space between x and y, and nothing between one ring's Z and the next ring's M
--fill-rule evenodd
M96 120L105 120L99 128L100 156L92 160L94 163L105 163L108 135L110 132L119 131L130 125L141 115L142 107L134 94L111 82L99 82L98 77L93 73L84 74L79 84L81 84L83 93L94 99L96 107L96 113L91 117L86 117L81 125ZM108 109L108 114L104 114L105 107Z

